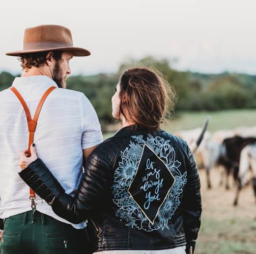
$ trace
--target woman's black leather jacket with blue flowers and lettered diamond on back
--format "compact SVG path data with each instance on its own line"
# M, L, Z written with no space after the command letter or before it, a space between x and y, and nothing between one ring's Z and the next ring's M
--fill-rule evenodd
M40 159L20 175L56 214L72 223L88 219L94 251L194 249L200 178L186 142L163 130L126 127L101 143L75 197L64 193Z

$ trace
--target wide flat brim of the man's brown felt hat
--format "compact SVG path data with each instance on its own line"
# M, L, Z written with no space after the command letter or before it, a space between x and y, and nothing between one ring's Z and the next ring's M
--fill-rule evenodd
M52 49L35 49L35 50L22 50L22 51L14 51L6 53L7 56L20 56L22 54L27 53L37 53L37 52L46 52L46 51L54 51L54 50L61 50L61 51L68 51L72 52L73 56L90 56L91 52L82 49L82 48L75 48L75 47L63 47L63 48L52 48Z

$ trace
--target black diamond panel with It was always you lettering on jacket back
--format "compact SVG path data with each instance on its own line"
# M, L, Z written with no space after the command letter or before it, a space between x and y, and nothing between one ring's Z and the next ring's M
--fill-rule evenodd
M152 225L174 183L172 172L145 144L128 193Z

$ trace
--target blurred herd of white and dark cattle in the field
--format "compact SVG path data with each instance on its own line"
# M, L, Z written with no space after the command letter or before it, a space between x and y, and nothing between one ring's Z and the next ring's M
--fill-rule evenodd
M199 145L198 136L202 136L202 128L180 130L175 134L187 141L197 163L206 170L209 189L211 169L221 166L221 183L225 179L225 188L229 189L229 176L233 175L237 186L234 205L238 204L241 189L251 183L256 198L256 126L218 130L213 134L206 130Z

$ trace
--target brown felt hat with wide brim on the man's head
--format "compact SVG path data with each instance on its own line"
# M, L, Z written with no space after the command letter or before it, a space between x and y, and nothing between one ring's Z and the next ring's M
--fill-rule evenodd
M73 56L89 56L90 51L73 47L71 32L61 25L39 25L26 28L23 39L23 50L6 53L8 56L20 56L25 53L36 53L52 50L72 52Z

